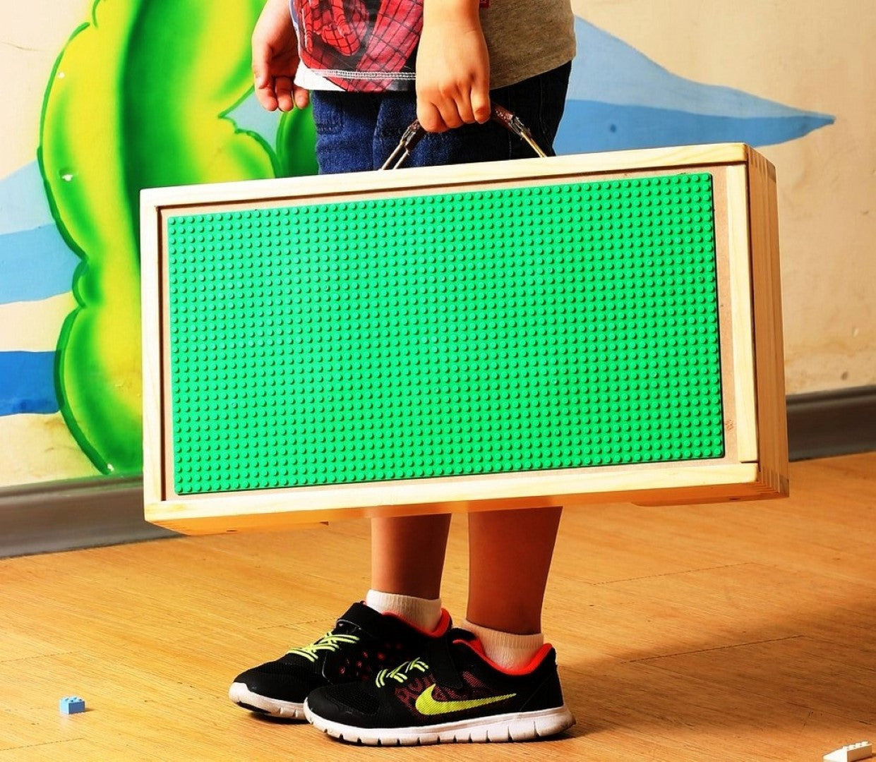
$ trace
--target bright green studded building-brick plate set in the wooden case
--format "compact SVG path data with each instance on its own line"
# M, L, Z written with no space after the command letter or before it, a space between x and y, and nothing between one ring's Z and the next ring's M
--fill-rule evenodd
M724 455L711 176L168 221L178 494Z

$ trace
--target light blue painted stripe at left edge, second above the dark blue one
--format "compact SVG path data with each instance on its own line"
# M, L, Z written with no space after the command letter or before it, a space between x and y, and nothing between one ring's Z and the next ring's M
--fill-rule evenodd
M0 304L69 291L79 262L54 224L0 236Z

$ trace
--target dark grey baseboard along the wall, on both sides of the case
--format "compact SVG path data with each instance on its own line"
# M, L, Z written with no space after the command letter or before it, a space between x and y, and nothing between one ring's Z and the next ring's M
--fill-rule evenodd
M876 386L788 397L792 461L876 450ZM0 490L0 558L175 537L143 519L137 477Z

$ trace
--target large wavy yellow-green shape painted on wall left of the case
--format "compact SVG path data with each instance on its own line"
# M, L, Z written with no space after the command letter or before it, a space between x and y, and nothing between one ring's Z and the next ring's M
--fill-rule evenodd
M58 341L60 411L107 474L142 469L139 191L274 176L262 138L224 118L251 92L261 0L98 0L55 63L39 166L81 258Z

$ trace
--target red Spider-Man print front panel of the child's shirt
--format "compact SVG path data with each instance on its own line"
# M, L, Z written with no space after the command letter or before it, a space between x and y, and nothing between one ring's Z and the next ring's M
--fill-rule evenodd
M360 93L413 88L422 0L292 0L308 89Z

